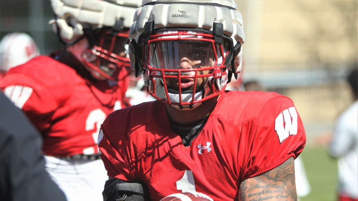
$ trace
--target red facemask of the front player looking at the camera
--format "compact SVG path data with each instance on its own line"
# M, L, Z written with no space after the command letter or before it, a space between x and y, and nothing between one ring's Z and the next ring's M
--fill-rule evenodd
M221 94L227 82L224 63L228 51L223 46L206 33L166 31L151 35L143 46L148 93L180 109L191 109Z

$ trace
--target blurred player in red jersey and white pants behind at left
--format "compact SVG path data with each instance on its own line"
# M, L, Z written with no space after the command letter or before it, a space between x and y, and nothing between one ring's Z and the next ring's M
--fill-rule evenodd
M69 201L102 200L108 179L97 136L106 116L126 106L128 31L140 0L51 0L65 44L11 68L0 88L43 137L46 168Z

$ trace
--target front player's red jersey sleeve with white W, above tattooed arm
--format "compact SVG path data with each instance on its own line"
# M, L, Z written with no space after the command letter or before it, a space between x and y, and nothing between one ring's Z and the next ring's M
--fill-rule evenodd
M242 166L243 180L263 174L290 157L296 158L306 143L301 118L287 97L271 99L253 121Z

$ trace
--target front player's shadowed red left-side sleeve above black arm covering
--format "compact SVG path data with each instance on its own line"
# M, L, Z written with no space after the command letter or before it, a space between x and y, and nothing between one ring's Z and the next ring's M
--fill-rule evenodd
M112 122L112 123L111 123ZM125 132L113 129L113 120L109 115L103 122L98 135L98 147L104 167L109 177L133 181L134 174L131 168Z

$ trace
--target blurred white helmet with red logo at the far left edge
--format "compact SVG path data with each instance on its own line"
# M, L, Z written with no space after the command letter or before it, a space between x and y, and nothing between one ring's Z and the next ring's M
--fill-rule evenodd
M11 67L24 64L39 54L35 41L28 34L6 34L0 41L0 80Z

